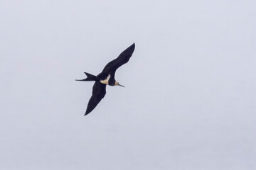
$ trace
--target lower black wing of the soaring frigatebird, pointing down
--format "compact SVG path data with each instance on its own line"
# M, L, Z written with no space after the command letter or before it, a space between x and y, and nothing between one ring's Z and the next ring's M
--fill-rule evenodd
M106 94L106 84L100 83L100 81L95 81L95 84L92 87L92 96L87 105L85 115L89 114L100 101L104 98Z

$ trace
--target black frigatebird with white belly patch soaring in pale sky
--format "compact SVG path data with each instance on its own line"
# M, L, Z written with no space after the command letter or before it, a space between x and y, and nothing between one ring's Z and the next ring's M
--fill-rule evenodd
M106 94L106 85L110 86L122 86L114 79L114 74L116 70L129 61L129 58L132 57L134 52L135 44L133 43L126 50L124 50L116 59L107 63L102 72L97 76L85 72L87 78L76 80L76 81L95 81L95 84L92 87L92 96L87 105L85 115L89 114L100 101L104 98ZM124 86L122 86L124 87Z

